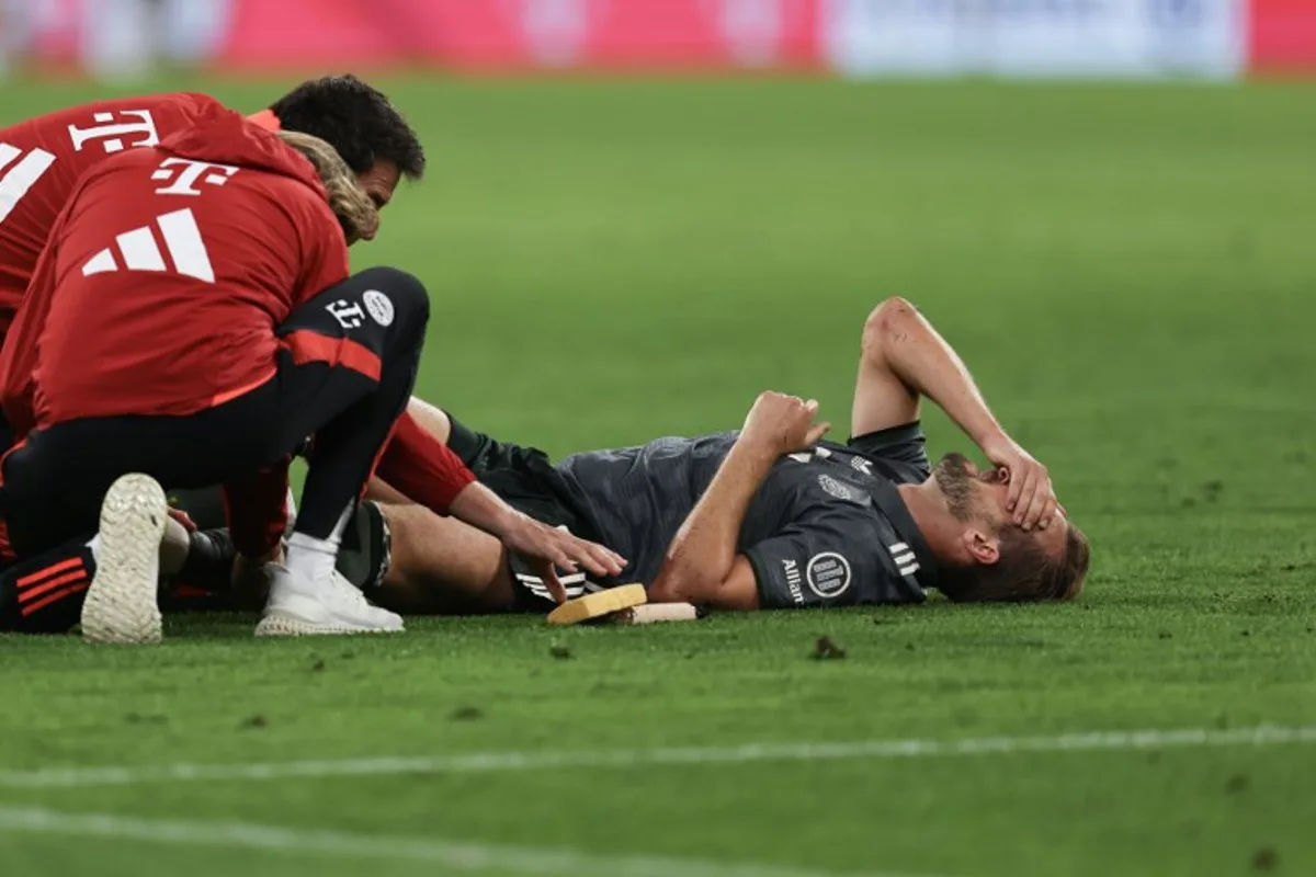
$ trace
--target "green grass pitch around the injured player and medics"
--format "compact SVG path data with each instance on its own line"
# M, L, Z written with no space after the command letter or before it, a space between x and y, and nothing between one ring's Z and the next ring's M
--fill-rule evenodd
M283 83L190 84L255 109ZM1087 593L387 640L255 642L251 618L174 621L147 650L5 638L4 873L1316 873L1311 731L1016 740L1316 726L1309 87L388 84L430 172L355 259L428 283L426 398L555 454L734 427L765 388L844 431L859 326L904 295L1051 467L1095 544ZM91 96L11 84L0 121ZM965 447L928 423L938 454ZM844 660L812 660L820 636ZM1013 743L553 763L982 738ZM470 753L522 761L32 774Z

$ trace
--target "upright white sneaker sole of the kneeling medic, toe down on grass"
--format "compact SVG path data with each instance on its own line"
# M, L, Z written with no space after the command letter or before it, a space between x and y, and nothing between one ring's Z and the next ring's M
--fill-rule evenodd
M164 490L149 475L125 475L100 506L100 556L83 604L88 643L158 643L159 550L168 522Z

